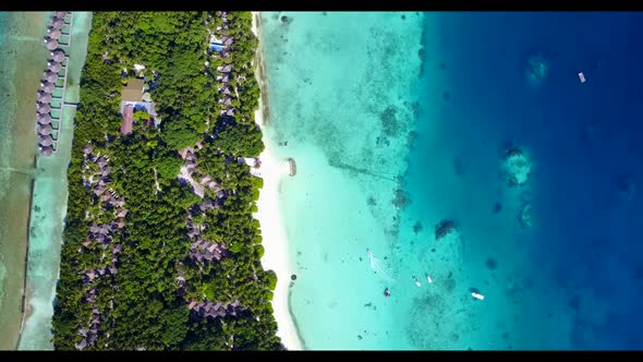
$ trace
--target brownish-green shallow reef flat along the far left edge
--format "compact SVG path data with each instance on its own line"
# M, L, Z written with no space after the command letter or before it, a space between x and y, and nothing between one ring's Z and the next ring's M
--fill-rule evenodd
M2 67L4 113L0 130L4 134L0 164L0 349L16 348L23 322L26 267L28 253L28 219L33 193L33 172L36 169L36 136L34 133L34 105L36 89L46 61L47 50L41 37L48 13L4 14L0 29L3 49ZM7 126L7 128L5 128ZM3 274L0 270L0 274ZM28 295L26 297L28 298Z

